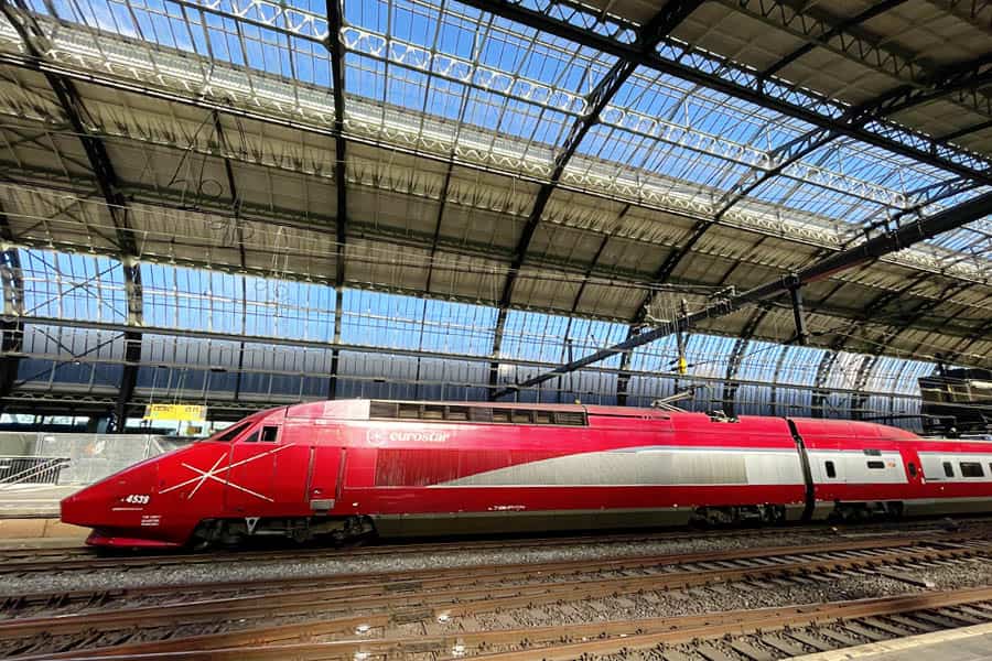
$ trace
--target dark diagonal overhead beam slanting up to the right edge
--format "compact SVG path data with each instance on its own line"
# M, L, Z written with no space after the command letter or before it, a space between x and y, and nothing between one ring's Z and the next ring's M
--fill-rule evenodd
M561 365L542 375L506 388L499 391L497 397L510 394L524 388L538 386L560 375L582 369L583 367L587 367L610 358L611 356L616 356L617 354L630 351L639 346L650 344L656 339L671 335L672 333L682 332L705 319L725 316L745 305L789 293L794 288L829 278L834 273L903 250L919 241L931 239L945 231L957 229L962 225L981 219L989 214L992 214L992 193L986 193L980 197L961 203L958 206L950 207L930 217L906 224L895 231L876 236L859 246L835 252L796 273L784 275L761 286L756 286L735 296L708 305L699 312L682 315L665 326L641 333L640 335L635 335L612 347L601 349L578 360Z

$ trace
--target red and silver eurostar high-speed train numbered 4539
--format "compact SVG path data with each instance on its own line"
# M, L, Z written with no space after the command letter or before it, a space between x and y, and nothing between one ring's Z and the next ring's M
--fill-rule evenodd
M333 401L250 415L62 501L88 543L992 511L992 444L864 422Z

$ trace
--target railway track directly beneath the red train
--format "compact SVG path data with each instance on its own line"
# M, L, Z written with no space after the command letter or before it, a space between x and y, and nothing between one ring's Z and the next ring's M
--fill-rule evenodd
M583 534L578 537L551 538L503 538L497 540L457 540L424 543L382 542L371 546L306 548L306 549L270 549L265 551L211 551L203 553L166 552L140 554L110 554L87 546L42 546L42 548L0 548L0 575L28 574L32 572L71 572L76 570L93 571L112 568L127 571L130 568L165 567L170 565L217 564L217 563L258 563L285 562L292 560L310 561L330 557L375 557L409 554L459 553L486 550L504 550L513 544L519 550L554 549L569 545L589 544L628 544L677 541L684 539L730 539L754 537L780 537L783 534L829 534L835 530L838 534L848 535L884 535L884 534L925 534L938 532L948 527L990 525L992 517L968 519L920 520L901 522L880 522L869 524L827 527L787 525L779 528L746 528L721 530L662 531L636 533Z

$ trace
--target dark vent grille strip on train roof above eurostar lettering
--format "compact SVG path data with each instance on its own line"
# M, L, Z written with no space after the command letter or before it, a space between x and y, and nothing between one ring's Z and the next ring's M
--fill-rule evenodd
M505 424L552 424L586 426L584 411L433 404L419 402L371 401L369 418L379 420L421 420L423 422L483 422Z

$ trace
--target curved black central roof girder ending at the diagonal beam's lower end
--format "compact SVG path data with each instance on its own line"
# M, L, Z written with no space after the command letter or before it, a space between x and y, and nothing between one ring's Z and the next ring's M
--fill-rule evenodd
M637 39L634 47L638 53L651 53L661 39L669 32L675 30L679 23L684 21L703 0L669 0L650 22L646 23L637 32ZM514 249L514 256L510 260L510 267L503 284L503 292L499 295L498 307L499 313L496 317L496 328L493 334L493 357L496 359L489 366L489 398L495 399L496 388L499 381L499 351L503 346L503 333L506 327L506 315L514 295L514 285L527 258L527 251L530 248L530 241L541 220L544 208L551 199L551 194L558 187L564 169L575 154L575 150L582 143L582 140L589 133L590 129L596 124L600 113L606 108L606 105L613 99L619 88L623 87L637 63L621 58L611 69L596 83L596 86L586 97L585 113L572 123L569 134L562 143L561 149L554 155L554 164L551 169L549 181L541 185L537 193L537 197L531 207L530 215L524 224L520 238Z

